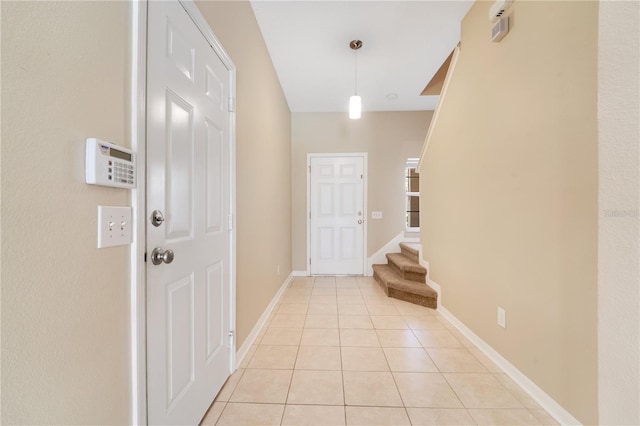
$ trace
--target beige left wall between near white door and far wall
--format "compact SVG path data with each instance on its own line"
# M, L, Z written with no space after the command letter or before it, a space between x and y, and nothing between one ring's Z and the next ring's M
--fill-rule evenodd
M237 67L239 348L291 272L291 114L249 2L197 5Z

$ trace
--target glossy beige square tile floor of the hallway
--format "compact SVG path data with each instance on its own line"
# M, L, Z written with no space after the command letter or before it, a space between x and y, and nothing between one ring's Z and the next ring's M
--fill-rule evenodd
M557 423L434 310L371 277L302 277L202 424Z

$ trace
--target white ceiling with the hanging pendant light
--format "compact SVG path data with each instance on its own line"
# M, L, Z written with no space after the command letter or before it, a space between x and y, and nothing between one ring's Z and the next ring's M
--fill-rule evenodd
M292 112L432 110L420 96L460 40L473 1L268 1L251 5ZM393 98L396 95L396 99Z

